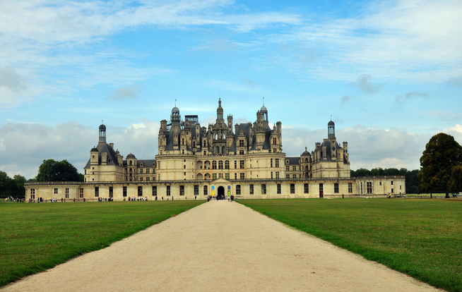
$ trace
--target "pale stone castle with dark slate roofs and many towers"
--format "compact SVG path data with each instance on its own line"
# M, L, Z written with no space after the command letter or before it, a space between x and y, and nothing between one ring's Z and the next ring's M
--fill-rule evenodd
M338 197L403 195L401 176L350 178L348 143L340 146L335 124L329 121L327 138L316 142L312 153L286 157L282 124L271 128L268 109L256 112L254 123L225 121L221 100L215 123L201 126L199 117L184 119L175 106L170 122L160 121L155 159L126 159L106 142L106 126L90 150L83 183L27 183L26 198L95 197L199 198L235 195L237 198Z

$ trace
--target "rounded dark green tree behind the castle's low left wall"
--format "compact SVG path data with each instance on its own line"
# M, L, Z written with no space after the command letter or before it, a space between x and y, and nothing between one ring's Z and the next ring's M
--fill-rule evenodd
M83 178L66 159L61 162L47 159L40 165L35 181L83 181Z

